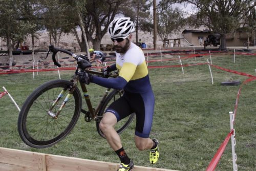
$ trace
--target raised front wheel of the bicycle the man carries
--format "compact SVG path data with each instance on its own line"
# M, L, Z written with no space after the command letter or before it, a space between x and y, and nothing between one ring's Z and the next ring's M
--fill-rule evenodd
M34 148L50 147L65 138L75 126L81 111L81 94L76 87L69 101L55 119L48 115L50 106L63 89L73 85L67 80L51 80L32 92L18 116L20 138ZM62 96L66 97L68 91ZM62 98L61 98L62 99ZM51 110L57 112L62 101Z

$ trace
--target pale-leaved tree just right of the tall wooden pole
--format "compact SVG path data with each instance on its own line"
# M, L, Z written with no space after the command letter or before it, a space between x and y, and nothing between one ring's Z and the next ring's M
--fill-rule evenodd
M161 39L178 33L185 25L185 19L179 8L168 6L163 8L161 3L157 9L157 32Z

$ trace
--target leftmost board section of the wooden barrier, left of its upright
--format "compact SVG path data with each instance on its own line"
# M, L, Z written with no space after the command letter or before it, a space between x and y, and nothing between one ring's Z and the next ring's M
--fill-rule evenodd
M40 171L46 171L45 155L40 153L1 147L0 162L11 165L30 167Z

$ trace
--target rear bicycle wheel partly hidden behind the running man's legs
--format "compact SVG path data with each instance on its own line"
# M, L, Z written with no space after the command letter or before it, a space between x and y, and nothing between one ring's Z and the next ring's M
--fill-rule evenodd
M103 101L102 103L102 107L98 112L98 116L99 118L101 118L101 116L104 114L106 108L115 100L117 100L118 98L120 98L123 94L122 90L113 90ZM120 120L119 122L117 122L117 124L115 125L115 130L118 134L121 134L133 121L133 118L135 116L135 113L132 113L131 115L129 115L128 117ZM101 120L101 119L100 119ZM99 133L99 135L103 138L105 138L105 135L102 133L102 131L99 128L99 123L100 121L96 122L96 127L97 127L97 132Z

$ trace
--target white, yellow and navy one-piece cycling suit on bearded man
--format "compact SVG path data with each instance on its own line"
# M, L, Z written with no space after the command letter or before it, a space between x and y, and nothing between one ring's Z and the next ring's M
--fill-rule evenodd
M143 51L131 42L124 54L116 53L116 78L93 76L92 82L106 88L123 89L124 95L113 102L106 112L113 113L117 121L136 113L135 135L148 138L154 113L154 93L151 88Z

